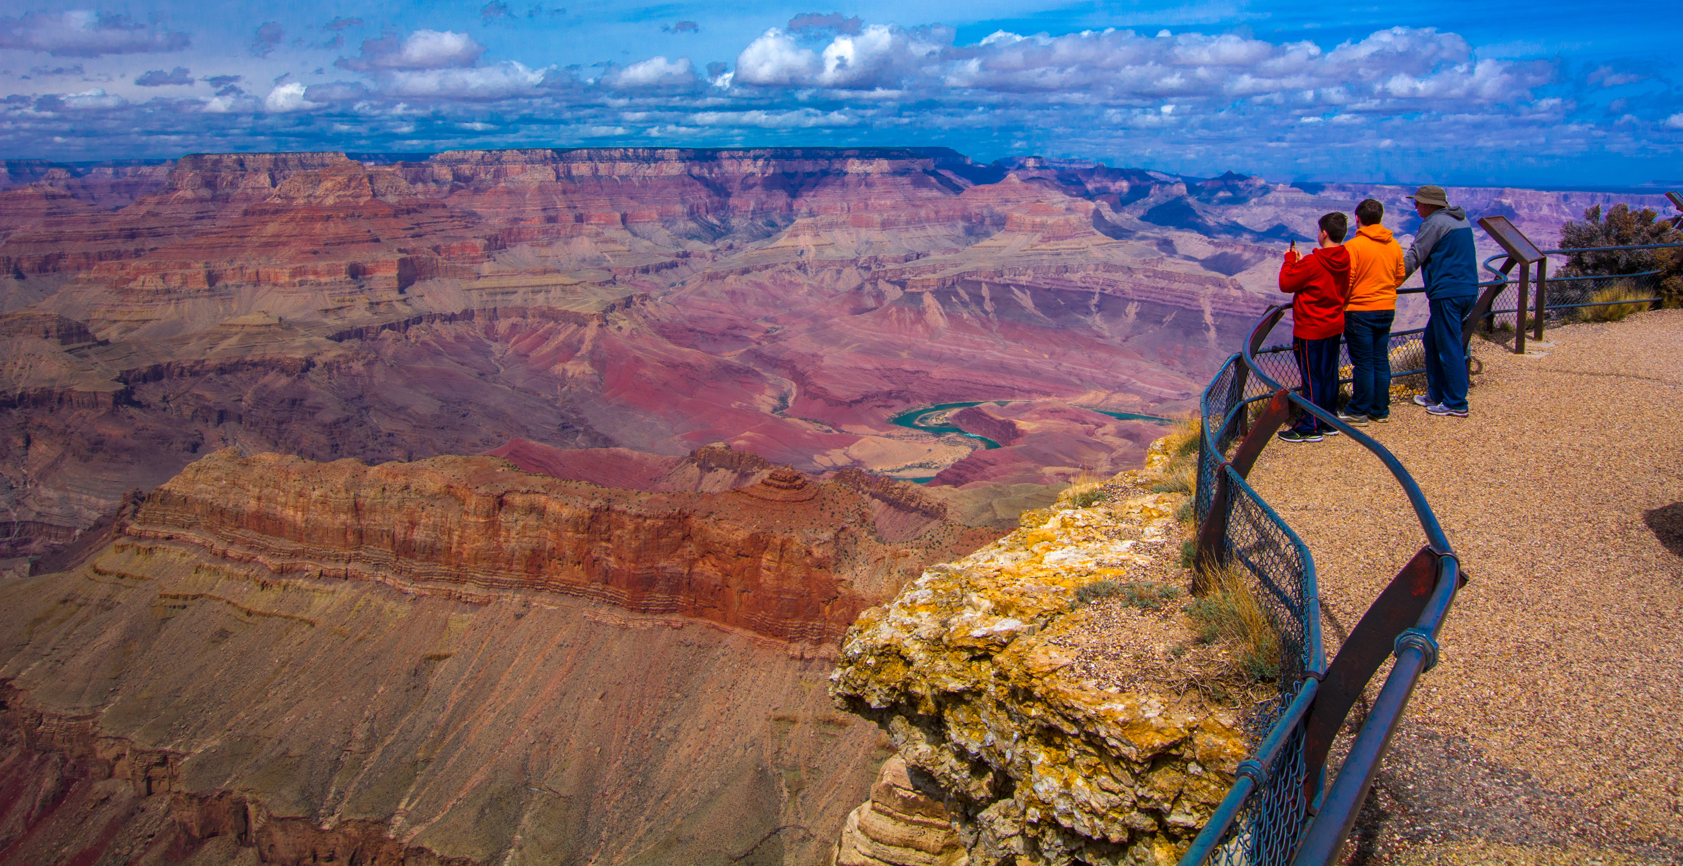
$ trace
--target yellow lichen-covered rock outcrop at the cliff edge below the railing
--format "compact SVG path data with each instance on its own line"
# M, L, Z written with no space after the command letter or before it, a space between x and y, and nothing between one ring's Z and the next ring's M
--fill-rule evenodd
M1229 713L1097 688L1057 646L1077 589L1178 562L1176 496L1143 493L1170 457L1153 446L1116 479L1133 494L1025 515L848 629L831 694L946 792L974 866L1173 863L1249 752Z

